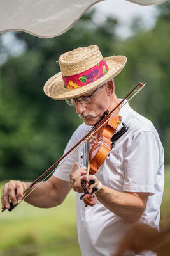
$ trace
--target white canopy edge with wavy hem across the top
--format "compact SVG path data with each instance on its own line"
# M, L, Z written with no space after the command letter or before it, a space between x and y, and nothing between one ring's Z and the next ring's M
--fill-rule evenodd
M91 6L102 0L13 0L0 1L0 33L25 31L52 38L70 29ZM140 5L167 0L127 0Z

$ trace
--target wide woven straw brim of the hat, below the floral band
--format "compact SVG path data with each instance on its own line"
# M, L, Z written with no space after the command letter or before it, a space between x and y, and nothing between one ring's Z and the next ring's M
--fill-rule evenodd
M125 67L127 58L125 56L111 56L104 58L109 70L108 72L98 79L97 81L87 84L83 87L75 89L64 88L64 81L62 80L61 72L52 76L48 81L46 81L44 86L45 94L54 100L66 100L80 97L97 87L102 86L104 83L110 81L111 78L117 76L122 69Z

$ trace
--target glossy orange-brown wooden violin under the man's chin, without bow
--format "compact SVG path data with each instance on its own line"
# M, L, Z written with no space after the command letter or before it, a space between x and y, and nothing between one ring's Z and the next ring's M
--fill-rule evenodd
M107 115L108 111L106 111ZM102 117L104 118L104 116ZM101 119L102 119L101 118ZM94 132L92 140L89 140L83 144L83 166L87 167L87 174L95 174L101 164L108 156L111 151L113 141L113 134L117 131L118 125L122 123L121 116L111 115L108 122L104 124L99 130ZM127 129L125 129L125 132ZM122 134L124 134L122 132ZM95 180L90 180L90 182L85 182L82 180L81 186L83 188L84 194L80 199L84 201L85 206L94 206L97 203L97 198L95 193L97 192L97 187L91 188L91 185L95 183Z

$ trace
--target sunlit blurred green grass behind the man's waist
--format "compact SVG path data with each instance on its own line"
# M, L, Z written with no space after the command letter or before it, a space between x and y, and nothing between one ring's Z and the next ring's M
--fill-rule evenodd
M170 166L167 166L161 228L170 225L169 195ZM22 202L12 212L5 211L0 216L0 256L81 255L76 234L76 195L73 191L59 207L38 209Z

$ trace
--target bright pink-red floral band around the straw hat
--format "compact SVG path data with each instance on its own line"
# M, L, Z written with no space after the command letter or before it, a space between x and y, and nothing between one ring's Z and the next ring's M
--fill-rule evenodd
M62 76L64 81L64 87L67 89L75 89L78 87L83 87L87 84L93 83L97 81L99 78L106 75L109 67L105 60L101 60L94 67L89 68L81 72L80 74L76 74L73 76Z

